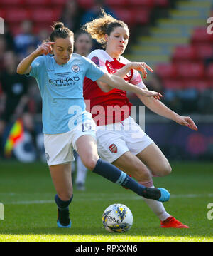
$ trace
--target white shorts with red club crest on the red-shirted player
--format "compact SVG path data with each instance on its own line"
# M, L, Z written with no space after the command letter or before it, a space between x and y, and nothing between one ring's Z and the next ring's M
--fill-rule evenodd
M153 140L131 117L121 123L97 126L96 129L99 157L109 163L114 162L127 151L137 155L153 143Z

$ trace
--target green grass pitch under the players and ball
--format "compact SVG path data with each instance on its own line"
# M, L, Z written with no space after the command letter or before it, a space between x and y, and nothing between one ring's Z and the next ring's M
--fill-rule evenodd
M77 191L70 206L71 229L56 227L55 189L48 166L43 163L0 163L0 241L213 241L213 220L207 218L207 205L213 202L212 163L171 163L173 173L154 178L155 187L167 188L170 201L165 209L190 229L163 229L143 200L130 190L94 174L87 175L87 190ZM102 226L102 213L113 203L127 205L133 213L133 226L126 233L108 233Z

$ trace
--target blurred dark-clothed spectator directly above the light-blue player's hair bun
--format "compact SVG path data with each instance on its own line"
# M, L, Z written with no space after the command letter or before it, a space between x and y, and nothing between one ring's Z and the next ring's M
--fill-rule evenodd
M68 0L65 4L60 21L74 33L80 29L80 21L84 10L77 3L77 0Z

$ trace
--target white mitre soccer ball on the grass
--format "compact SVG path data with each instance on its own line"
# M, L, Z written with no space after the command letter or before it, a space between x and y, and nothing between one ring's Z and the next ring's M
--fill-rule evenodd
M133 223L133 215L126 205L115 203L104 210L102 222L108 232L126 232Z

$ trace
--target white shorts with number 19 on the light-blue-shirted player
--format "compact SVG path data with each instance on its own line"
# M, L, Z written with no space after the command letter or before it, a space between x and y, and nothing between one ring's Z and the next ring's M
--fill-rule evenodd
M83 135L95 135L94 121L87 120L67 133L45 134L44 147L49 166L70 163L75 160L73 150L77 151L76 141Z

